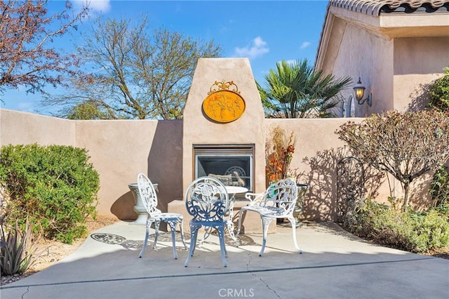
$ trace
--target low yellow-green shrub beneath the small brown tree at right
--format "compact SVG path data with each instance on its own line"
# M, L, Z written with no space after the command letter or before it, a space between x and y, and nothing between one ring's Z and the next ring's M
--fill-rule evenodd
M396 211L367 200L358 210L350 232L376 244L421 253L449 246L449 208Z

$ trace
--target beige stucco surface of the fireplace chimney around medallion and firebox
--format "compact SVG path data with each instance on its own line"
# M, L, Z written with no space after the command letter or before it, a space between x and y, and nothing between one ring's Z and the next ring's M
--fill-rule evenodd
M246 102L245 112L235 121L221 124L211 121L202 112L203 100L215 81L233 81ZM231 90L235 88L232 86ZM183 187L193 178L193 144L253 144L255 159L255 190L262 192L264 183L264 113L248 58L200 58L184 109ZM262 161L262 163L260 163Z

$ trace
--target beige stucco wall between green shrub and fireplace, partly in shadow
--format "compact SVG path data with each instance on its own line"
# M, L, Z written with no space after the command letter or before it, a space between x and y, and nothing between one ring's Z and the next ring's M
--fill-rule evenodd
M76 121L76 146L100 173L98 213L133 219L128 183L138 173L158 183L159 208L182 198L182 121Z

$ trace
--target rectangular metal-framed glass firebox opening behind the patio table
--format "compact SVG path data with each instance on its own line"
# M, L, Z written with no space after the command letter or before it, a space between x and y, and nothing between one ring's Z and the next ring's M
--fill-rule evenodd
M253 192L254 145L194 145L194 178L211 176Z

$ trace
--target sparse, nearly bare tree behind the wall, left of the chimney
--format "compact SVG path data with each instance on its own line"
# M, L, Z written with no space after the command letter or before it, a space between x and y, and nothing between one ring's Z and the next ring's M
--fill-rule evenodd
M90 107L98 110L94 118L181 119L198 58L217 57L220 46L168 29L150 32L147 18L136 25L97 20L78 48L93 72L74 78L70 91L43 104L62 106L66 117Z

